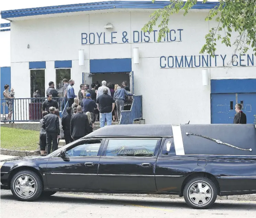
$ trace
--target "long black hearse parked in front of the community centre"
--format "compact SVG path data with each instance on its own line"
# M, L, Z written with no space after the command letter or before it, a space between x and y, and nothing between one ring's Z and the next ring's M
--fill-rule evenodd
M56 191L184 196L208 208L217 195L256 193L251 124L113 125L47 156L1 162L1 188L22 201Z

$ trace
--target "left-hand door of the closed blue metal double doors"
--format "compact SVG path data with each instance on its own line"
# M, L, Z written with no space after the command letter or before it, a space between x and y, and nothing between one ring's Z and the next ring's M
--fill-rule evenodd
M233 123L236 94L211 94L211 123Z

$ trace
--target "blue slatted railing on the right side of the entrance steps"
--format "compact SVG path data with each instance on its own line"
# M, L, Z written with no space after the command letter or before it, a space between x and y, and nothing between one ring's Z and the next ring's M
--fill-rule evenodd
M136 119L142 119L142 95L133 96L131 110L122 110L119 124L133 124Z

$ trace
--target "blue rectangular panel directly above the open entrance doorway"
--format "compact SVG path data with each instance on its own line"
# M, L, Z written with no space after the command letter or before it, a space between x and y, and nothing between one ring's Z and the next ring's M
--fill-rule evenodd
M116 73L131 71L131 58L90 60L90 73Z

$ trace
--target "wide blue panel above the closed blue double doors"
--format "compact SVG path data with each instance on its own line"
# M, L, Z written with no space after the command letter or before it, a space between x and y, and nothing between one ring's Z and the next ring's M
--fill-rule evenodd
M211 94L256 93L256 79L211 80Z

